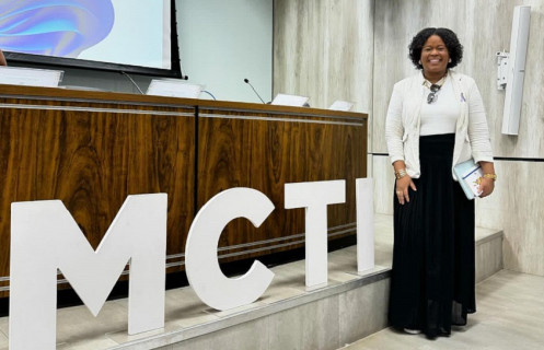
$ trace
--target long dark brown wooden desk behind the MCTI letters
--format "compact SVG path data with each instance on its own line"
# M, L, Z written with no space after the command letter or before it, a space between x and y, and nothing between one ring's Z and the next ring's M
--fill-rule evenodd
M232 187L261 190L276 209L258 229L231 222L221 261L303 246L304 211L283 208L286 183L345 179L346 203L328 209L329 238L356 232L367 115L63 89L0 92L0 296L9 295L14 201L62 200L96 248L128 195L166 192L169 272L184 268L199 208Z

